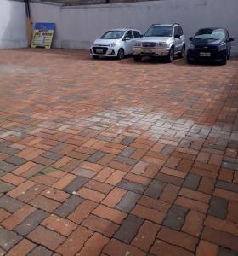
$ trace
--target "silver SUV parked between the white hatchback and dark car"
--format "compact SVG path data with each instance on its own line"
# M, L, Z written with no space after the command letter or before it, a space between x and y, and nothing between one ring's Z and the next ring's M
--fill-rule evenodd
M185 54L185 37L178 23L153 24L143 38L133 45L134 61L141 61L143 56L165 57L167 62L173 61L173 56L183 58Z

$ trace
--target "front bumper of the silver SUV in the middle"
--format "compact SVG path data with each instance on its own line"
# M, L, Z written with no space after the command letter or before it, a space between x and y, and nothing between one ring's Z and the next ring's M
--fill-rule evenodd
M140 48L140 47L136 47L133 48L133 55L138 55L138 56L155 56L155 57L159 57L159 56L167 56L169 54L169 48L166 49L160 49L160 48Z

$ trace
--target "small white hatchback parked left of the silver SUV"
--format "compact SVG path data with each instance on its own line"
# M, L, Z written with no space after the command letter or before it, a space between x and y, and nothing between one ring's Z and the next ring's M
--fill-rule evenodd
M136 29L119 28L105 32L94 41L90 54L94 59L103 57L117 57L122 60L125 55L133 53L133 44L136 38L141 37L141 32Z

